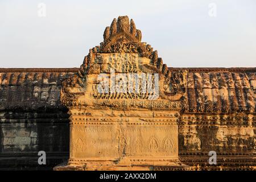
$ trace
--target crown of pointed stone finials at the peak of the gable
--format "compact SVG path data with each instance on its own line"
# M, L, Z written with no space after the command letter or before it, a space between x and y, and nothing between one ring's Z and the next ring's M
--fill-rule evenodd
M118 16L104 31L104 42L141 42L142 33L136 29L133 19Z

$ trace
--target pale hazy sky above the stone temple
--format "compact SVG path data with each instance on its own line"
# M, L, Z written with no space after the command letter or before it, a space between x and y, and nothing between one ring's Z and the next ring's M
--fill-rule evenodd
M0 0L0 68L80 67L119 15L168 67L256 67L255 0Z

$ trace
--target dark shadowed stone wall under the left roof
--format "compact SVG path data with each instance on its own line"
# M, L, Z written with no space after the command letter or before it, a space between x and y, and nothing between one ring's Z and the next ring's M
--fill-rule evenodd
M68 159L67 111L0 114L0 169L52 169ZM46 152L46 165L38 164L39 151Z

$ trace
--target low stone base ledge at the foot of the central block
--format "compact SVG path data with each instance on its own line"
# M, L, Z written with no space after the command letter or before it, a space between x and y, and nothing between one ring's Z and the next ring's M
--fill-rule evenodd
M186 169L179 158L123 158L121 160L69 159L55 171L153 171L156 168Z

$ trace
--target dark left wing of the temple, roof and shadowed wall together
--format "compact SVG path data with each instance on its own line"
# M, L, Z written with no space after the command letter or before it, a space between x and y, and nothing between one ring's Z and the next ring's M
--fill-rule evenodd
M51 169L68 159L69 115L61 79L73 69L1 69L0 169ZM38 165L46 151L47 165Z

